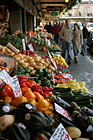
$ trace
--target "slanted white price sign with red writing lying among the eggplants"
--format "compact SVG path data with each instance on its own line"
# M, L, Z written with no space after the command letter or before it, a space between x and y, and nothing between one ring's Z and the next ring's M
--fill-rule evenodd
M69 113L56 103L55 103L55 110L56 112L58 112L59 114L67 118L68 120L72 121L72 118L70 117Z

